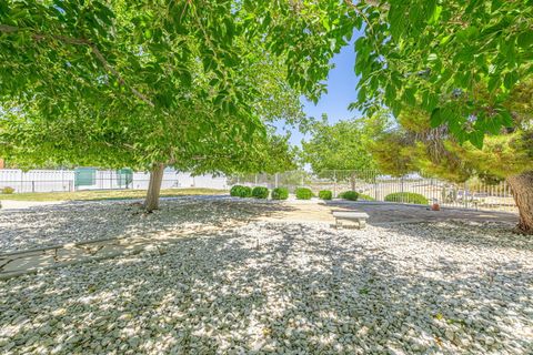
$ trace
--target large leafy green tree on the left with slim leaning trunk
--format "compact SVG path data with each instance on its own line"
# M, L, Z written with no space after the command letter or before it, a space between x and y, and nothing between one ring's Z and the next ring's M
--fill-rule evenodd
M3 1L0 154L151 171L248 171L264 121L301 115L351 28L336 1ZM345 39L344 39L345 38ZM289 104L288 104L289 103Z

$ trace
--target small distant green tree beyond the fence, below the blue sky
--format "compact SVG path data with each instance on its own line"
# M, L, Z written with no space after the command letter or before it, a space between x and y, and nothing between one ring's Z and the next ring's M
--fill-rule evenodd
M311 139L302 142L302 159L311 164L314 173L321 175L333 178L333 171L339 170L335 179L350 179L352 190L355 190L358 174L376 168L368 145L373 135L383 130L382 122L373 118L340 121L330 125L324 114L322 121L311 126Z

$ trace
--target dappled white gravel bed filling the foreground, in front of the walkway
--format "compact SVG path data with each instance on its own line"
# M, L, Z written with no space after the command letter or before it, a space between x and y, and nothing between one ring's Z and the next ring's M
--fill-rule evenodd
M0 295L0 354L533 353L533 241L496 224L255 222Z

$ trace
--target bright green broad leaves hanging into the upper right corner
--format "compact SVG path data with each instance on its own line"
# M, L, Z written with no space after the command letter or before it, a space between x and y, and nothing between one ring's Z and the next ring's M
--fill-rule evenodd
M365 20L355 42L358 103L399 116L426 112L460 142L481 148L485 134L512 126L504 104L533 74L530 0L346 0Z

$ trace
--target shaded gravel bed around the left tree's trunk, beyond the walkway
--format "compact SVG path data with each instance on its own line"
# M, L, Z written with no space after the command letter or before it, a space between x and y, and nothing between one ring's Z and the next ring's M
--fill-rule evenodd
M145 214L139 202L68 202L26 210L0 210L0 254L100 239L181 230L187 224L249 221L291 207L224 196L162 199Z

